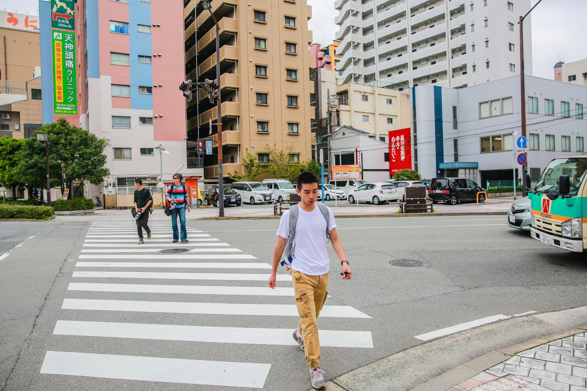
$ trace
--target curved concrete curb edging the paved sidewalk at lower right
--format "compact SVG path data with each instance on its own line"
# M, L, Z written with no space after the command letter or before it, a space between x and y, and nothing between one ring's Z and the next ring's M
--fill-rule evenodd
M587 307L505 319L434 339L357 368L327 391L445 391L515 353L587 330Z

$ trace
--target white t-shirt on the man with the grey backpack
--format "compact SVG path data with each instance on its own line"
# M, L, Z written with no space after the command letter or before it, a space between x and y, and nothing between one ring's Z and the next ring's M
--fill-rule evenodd
M326 206L328 208L328 206ZM328 208L330 223L328 228L336 228L332 210ZM281 215L281 222L277 230L281 237L289 236L289 210ZM330 259L326 249L326 219L318 206L312 212L306 212L298 205L298 222L295 227L295 258L292 268L308 276L322 276L328 273Z

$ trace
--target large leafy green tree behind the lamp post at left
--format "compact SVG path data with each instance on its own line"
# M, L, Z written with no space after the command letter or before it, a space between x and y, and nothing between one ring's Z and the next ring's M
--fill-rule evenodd
M62 192L70 189L70 199L83 186L83 182L99 185L110 174L105 167L106 139L97 138L85 129L70 125L65 118L43 125L36 133L49 134L50 185L59 186ZM18 158L18 175L26 183L39 183L41 187L46 187L45 144L36 141L35 137L27 138ZM75 189L73 182L77 182Z

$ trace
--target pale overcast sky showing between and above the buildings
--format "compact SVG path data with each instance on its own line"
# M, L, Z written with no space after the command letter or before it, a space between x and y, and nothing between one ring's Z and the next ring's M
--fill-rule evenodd
M313 18L308 24L314 42L332 42L338 30L334 0L307 1L312 6ZM532 0L532 5L537 1ZM38 0L2 0L2 9L38 15L38 4ZM587 58L586 0L542 0L531 15L534 76L552 79L559 54L564 55L564 62Z

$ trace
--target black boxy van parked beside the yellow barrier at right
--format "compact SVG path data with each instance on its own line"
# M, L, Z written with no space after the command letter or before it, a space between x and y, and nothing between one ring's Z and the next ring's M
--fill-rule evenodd
M433 178L430 183L430 198L432 202L450 203L477 202L477 193L485 189L477 182L468 178ZM485 195L479 195L479 202L485 202Z

